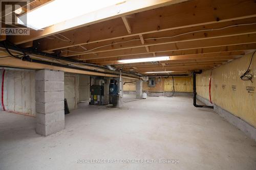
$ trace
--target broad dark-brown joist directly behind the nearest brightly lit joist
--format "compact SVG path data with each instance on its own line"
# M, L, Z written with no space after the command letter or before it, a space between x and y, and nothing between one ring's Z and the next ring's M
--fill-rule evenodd
M39 40L40 46L38 46L38 49L41 51L56 50L64 47L113 40L139 34L144 35L159 31L251 18L256 16L254 12L255 8L256 5L253 1L226 0L225 3L223 3L222 0L188 1L186 3L136 13L136 17L129 18L130 25L133 29L132 34L127 33L127 30L123 27L121 18L115 18L91 25L90 27L82 27L62 33L62 35L71 39L72 42L59 41L58 39ZM17 40L15 41L14 39L12 41L16 42Z

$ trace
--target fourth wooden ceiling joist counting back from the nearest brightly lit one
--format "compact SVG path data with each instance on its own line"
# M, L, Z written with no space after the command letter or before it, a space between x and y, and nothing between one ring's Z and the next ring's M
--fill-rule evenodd
M227 46L227 45L238 45L238 44L249 44L256 43L256 34L248 35L239 35L239 36L230 36L214 39L204 39L204 40L193 40L177 43L168 43L162 45L153 45L151 46L151 52L159 53L166 51L180 51L180 50L191 50L195 48L205 48L205 47L218 47L218 46ZM80 60L89 60L89 59L99 59L99 58L109 58L109 57L120 57L128 55L141 55L145 54L144 47L125 49L125 50L116 50L109 51L104 53L98 53L97 55L87 54L81 55L78 57ZM76 57L74 57L76 58Z

